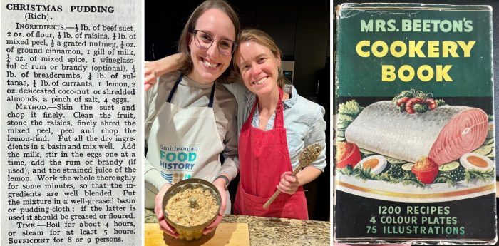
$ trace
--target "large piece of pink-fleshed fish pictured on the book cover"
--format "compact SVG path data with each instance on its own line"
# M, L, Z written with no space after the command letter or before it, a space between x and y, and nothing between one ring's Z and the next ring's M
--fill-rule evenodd
M439 106L408 114L391 101L379 101L364 108L346 128L345 138L392 158L415 163L428 156L442 165L479 148L487 128L487 114L480 108Z

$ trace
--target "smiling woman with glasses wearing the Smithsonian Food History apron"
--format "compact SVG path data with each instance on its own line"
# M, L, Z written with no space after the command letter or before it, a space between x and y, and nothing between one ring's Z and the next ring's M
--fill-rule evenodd
M175 57L180 71L160 76L145 95L145 207L154 208L160 228L173 237L178 233L162 212L172 183L202 178L219 190L219 216L205 234L230 212L227 185L238 171L237 103L219 82L233 81L227 68L239 29L237 15L225 1L197 6L180 35L180 55Z

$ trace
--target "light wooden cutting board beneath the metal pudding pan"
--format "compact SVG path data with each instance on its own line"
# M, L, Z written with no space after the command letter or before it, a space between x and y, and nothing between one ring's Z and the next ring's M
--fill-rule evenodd
M220 223L215 232L212 232L208 235L203 235L200 239L192 240L190 242L187 242L185 240L178 240L170 237L170 235L163 234L163 231L159 229L159 226L160 225L158 225L158 223L145 223L145 246L249 246L249 231L247 223Z

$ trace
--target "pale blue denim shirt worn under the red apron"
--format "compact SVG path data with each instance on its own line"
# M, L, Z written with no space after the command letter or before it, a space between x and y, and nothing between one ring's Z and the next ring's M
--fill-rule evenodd
M225 85L227 89L234 94L237 104L237 126L238 135L242 124L251 113L256 95L247 91L242 83L232 83ZM319 158L312 163L312 166L324 172L326 168L326 121L324 113L326 111L322 106L299 96L294 86L285 86L284 91L289 93L290 98L284 100L284 127L286 128L287 145L291 158L292 168L296 168L298 156L302 150L312 143L321 143L324 149ZM275 112L269 118L266 130L274 128ZM252 126L258 128L259 116L255 110L252 117Z

